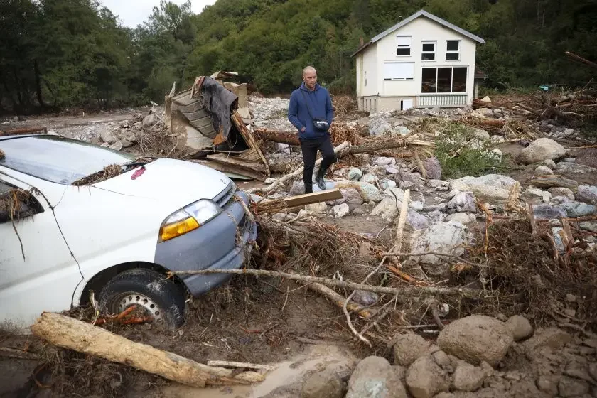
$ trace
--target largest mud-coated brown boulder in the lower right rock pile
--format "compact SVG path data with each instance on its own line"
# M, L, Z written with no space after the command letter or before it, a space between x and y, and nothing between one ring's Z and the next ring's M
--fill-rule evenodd
M497 365L512 342L512 333L504 323L484 315L453 321L441 330L437 338L442 350L473 365L483 361Z

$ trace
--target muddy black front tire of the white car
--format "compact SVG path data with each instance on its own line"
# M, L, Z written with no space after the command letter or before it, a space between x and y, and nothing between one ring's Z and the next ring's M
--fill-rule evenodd
M132 304L139 304L151 314L154 323L176 329L185 321L185 294L172 279L151 269L123 271L104 286L99 294L99 308L117 314Z

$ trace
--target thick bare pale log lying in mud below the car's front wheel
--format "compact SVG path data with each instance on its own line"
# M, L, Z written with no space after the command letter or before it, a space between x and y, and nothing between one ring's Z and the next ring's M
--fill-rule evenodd
M203 365L59 313L42 313L31 331L58 347L136 367L193 387L251 384L264 380L264 376L256 372L236 374L234 370Z

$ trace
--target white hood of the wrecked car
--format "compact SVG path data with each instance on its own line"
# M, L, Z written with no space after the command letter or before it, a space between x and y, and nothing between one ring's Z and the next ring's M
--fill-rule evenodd
M122 195L171 202L177 208L200 199L213 199L231 180L224 173L189 161L157 159L114 178L94 184Z

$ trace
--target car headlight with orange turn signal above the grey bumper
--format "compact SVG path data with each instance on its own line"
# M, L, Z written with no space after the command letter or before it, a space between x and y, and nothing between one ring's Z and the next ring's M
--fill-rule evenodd
M191 203L162 222L158 242L196 230L220 213L222 213L222 209L211 200L202 199Z

